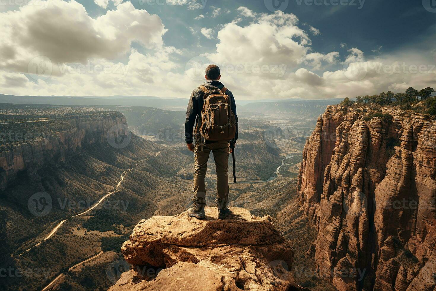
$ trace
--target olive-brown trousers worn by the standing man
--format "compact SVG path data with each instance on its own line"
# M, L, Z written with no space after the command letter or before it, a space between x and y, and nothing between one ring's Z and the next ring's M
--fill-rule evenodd
M195 143L194 148L194 201L200 207L206 205L206 185L204 178L208 168L209 155L212 152L214 155L216 170L217 170L217 197L215 202L219 209L227 206L228 202L228 147L230 144L227 141L218 141L212 144L203 144L201 151L200 142Z

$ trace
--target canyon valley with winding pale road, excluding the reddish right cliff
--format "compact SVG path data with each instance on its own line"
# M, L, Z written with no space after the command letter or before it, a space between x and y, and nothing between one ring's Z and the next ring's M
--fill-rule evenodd
M152 216L177 215L191 205L194 161L186 145L165 135L149 139L130 131L138 134L145 129L146 133L151 130L155 134L169 131L170 137L177 137L183 130L183 112L133 106L3 104L0 114L3 118L0 133L7 134L2 135L6 142L0 145L2 266L12 272L44 271L44 276L39 277L8 276L0 283L0 289L107 290L122 275L118 272L112 276L107 270L123 261L121 247L129 240L135 224ZM230 185L231 204L242 205L255 216L271 214L274 220L288 199L283 189L287 185L295 188L298 175L295 165L301 161L305 134L312 131L313 122L311 117L287 120L286 115L242 116L236 167L241 183ZM288 141L286 134L274 136L273 130L285 128L283 124L301 137ZM126 144L123 138L128 140ZM285 159L289 155L296 157ZM213 164L212 157L210 163ZM215 167L211 166L207 191L212 196L214 177ZM41 193L51 199L49 211L34 213L29 201ZM274 199L270 199L272 195ZM212 201L210 197L208 205L213 205ZM248 212L243 216L251 217ZM282 231L281 227L270 226ZM283 246L287 248L290 244L283 241ZM245 247L253 249L246 257L247 264L249 260L259 263L257 273L247 275L251 276L250 282L257 283L248 283L247 288L263 284L263 277L258 275L263 271L271 275L268 275L271 284L281 280L282 287L289 286L281 275L275 277L279 266L268 266L269 261L262 259L263 250L254 251L261 248L258 243ZM232 251L241 253L242 249L241 246ZM286 259L289 274L291 258L289 253L289 260ZM198 267L189 264L182 269ZM128 263L121 267L131 268ZM168 265L165 272L170 269Z

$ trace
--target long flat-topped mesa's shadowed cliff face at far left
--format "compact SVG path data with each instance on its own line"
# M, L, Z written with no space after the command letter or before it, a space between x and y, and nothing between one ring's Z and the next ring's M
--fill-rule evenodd
M108 134L126 134L123 131L127 129L126 118L117 112L112 116L75 116L61 120L70 125L68 129L39 133L38 138L14 142L9 150L0 152L0 190L3 191L10 181L17 178L19 171L63 164L67 157L79 153L83 146L107 143ZM109 132L117 126L119 131Z

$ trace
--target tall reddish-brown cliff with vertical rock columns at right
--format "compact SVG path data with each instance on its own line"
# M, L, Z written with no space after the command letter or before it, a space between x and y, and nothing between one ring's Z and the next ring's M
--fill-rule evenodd
M317 269L338 290L434 290L436 122L358 111L328 106L304 147L298 191Z

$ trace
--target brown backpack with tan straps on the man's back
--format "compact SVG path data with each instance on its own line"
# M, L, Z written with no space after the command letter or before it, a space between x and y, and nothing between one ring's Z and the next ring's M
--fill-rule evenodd
M230 96L226 88L199 86L204 92L201 119L197 120L195 134L205 140L232 140L236 134L236 119L232 111ZM201 122L199 122L201 120Z

